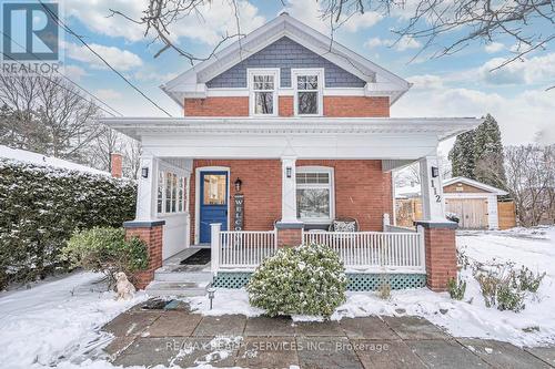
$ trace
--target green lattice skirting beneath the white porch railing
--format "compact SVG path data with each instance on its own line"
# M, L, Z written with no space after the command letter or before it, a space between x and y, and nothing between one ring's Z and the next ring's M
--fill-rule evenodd
M426 286L425 274L364 274L347 273L350 291L376 290L384 281L392 289L421 288ZM213 286L220 288L243 288L249 283L251 273L220 271L214 277Z

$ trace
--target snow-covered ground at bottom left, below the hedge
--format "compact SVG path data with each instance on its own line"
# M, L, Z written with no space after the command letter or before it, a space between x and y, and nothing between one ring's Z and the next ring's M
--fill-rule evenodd
M0 294L0 362L3 368L40 368L83 360L84 353L108 344L100 328L144 300L115 301L114 293L95 284L98 274L81 273L34 288ZM91 368L104 368L92 363ZM83 365L87 365L83 363Z

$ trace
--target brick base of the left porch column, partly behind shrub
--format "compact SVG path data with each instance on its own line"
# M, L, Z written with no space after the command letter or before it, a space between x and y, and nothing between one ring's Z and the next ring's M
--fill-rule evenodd
M138 289L144 289L153 279L154 270L162 266L162 235L165 221L130 221L123 223L125 238L138 236L147 243L149 266L133 276Z

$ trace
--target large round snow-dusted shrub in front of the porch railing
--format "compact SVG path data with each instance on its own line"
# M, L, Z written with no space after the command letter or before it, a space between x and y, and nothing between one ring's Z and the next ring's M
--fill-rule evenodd
M345 301L343 263L330 247L306 245L279 249L253 273L246 290L252 306L268 315L330 317Z

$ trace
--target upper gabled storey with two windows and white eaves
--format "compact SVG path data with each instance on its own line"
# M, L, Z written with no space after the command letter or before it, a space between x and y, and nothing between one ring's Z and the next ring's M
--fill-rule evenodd
M411 84L282 13L162 85L188 116L389 116Z

